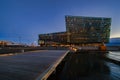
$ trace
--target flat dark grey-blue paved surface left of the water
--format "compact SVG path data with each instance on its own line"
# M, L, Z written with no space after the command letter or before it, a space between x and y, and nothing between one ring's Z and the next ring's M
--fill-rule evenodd
M39 76L50 69L66 52L41 50L0 56L0 80L40 79Z

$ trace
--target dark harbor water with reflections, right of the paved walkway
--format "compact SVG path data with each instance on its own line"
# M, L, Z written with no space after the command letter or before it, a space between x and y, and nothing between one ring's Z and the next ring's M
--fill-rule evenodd
M118 57L119 52L107 53L107 57L113 54ZM59 74L48 80L120 80L120 65L94 52L70 53Z

